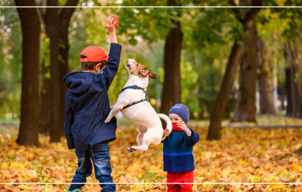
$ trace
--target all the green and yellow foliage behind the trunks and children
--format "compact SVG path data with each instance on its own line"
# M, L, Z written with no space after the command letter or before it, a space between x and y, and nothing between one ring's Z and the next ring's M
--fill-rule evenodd
M66 0L59 0L63 5ZM0 5L12 5L12 0L3 0ZM39 5L45 1L36 0ZM228 0L179 0L180 5L230 5ZM239 1L235 0L236 5ZM299 5L298 0L265 0L263 5ZM141 5L166 6L167 0L98 1L79 0L79 5ZM249 8L241 8L247 11ZM129 57L135 58L157 74L150 79L148 98L159 109L164 79L164 40L168 31L180 21L183 32L181 51L181 101L187 104L195 117L212 110L220 88L227 58L234 40L238 40L243 28L239 8L81 8L73 13L69 26L69 69L81 70L80 51L88 45L102 47L109 52L109 37L104 26L108 15L117 15L118 42L122 45L120 66L108 95L114 103L118 91L128 78L124 67ZM284 84L285 66L283 42L299 36L302 27L299 8L262 8L256 17L257 31L265 41L265 60L274 66L278 83ZM237 43L242 43L237 41ZM0 116L6 113L19 114L21 96L21 31L15 8L1 8L0 14ZM49 39L41 31L40 60L49 66ZM301 73L298 70L297 73ZM50 73L46 73L50 77ZM40 78L41 82L41 78ZM233 100L229 101L232 111Z

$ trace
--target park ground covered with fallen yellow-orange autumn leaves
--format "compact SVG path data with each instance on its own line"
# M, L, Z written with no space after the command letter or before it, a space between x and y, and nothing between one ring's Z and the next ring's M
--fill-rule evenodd
M193 191L302 191L302 184L298 184L302 182L302 157L292 153L302 146L302 129L224 128L221 140L207 141L207 123L191 122L191 127L200 135L199 142L193 147L194 182L280 184L194 184ZM300 125L302 121L263 117L258 118L258 123ZM61 142L49 143L49 137L40 134L40 147L19 146L15 143L17 129L0 127L0 182L71 181L77 160L74 151L67 149L64 138ZM110 142L114 182L166 182L166 172L162 170L162 144L150 146L144 152L128 152L126 147L136 145L135 127L120 125L116 134L117 139ZM87 182L97 182L94 173ZM0 184L0 191L66 191L68 186ZM117 184L116 187L116 191L166 191L165 184ZM82 188L82 191L99 190L98 184L86 184Z

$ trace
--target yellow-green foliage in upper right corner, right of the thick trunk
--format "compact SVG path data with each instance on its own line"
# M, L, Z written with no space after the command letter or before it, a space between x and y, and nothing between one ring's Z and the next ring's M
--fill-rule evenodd
M286 0L283 3L270 1L270 3L274 6L299 6L300 1ZM276 68L277 82L282 86L285 85L284 68L288 67L284 61L284 43L300 38L301 16L300 8L263 8L256 19L258 35L265 42L265 62L271 68ZM298 76L298 71L296 76Z

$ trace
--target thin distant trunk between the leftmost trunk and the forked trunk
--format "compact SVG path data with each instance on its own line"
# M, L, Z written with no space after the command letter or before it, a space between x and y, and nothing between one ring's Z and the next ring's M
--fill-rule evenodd
M42 62L42 88L40 92L40 119L39 119L39 132L49 134L50 131L50 117L51 112L49 110L51 106L51 86L50 77L47 76L49 66L45 66Z

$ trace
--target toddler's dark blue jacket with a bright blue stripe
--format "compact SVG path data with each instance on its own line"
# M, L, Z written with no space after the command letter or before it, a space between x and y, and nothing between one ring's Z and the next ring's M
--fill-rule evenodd
M191 130L187 136L183 130L174 131L163 140L163 171L179 172L194 170L193 145L199 140L198 133Z

